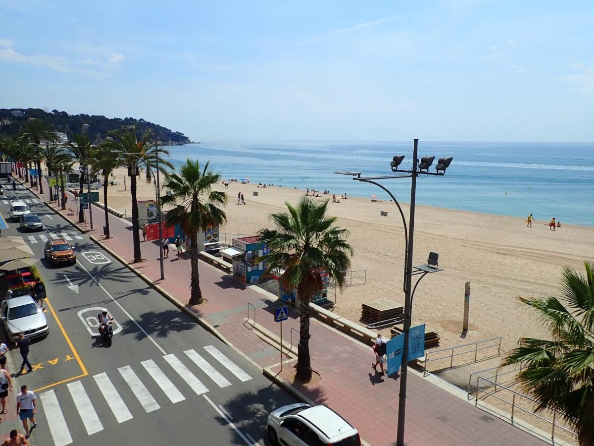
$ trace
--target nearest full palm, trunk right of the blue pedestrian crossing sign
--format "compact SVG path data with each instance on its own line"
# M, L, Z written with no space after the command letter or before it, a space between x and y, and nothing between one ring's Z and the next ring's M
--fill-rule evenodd
M301 305L299 347L296 378L311 379L309 357L309 302L326 285L322 275L340 290L346 286L353 248L346 242L349 231L335 226L336 217L326 215L328 200L317 202L303 197L296 206L285 203L287 212L271 213L274 229L258 232L270 252L255 262L266 262L264 274L284 271L280 282L289 290L297 290ZM277 273L276 273L277 274Z

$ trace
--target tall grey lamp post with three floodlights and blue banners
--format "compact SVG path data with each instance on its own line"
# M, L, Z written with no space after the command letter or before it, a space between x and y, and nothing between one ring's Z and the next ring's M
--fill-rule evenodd
M438 161L436 172L429 172L429 167L431 166L434 157L433 156L425 156L421 159L419 163L418 159L418 142L419 140L415 138L414 145L413 145L413 159L412 159L412 169L410 170L403 170L399 169L400 163L402 163L403 159L405 158L403 155L396 155L393 158L393 161L390 163L391 169L393 172L402 172L407 175L388 175L384 177L361 177L360 172L335 172L337 174L343 175L353 175L353 180L361 181L363 183L371 183L375 184L375 186L380 187L384 191L390 195L391 199L394 200L394 204L398 207L400 211L400 217L402 218L402 223L405 229L405 271L404 271L404 279L403 279L403 291L405 293L405 311L404 311L404 321L403 321L403 334L404 334L404 346L402 349L402 366L400 368L400 394L399 394L399 403L398 403L398 430L397 430L397 438L396 438L396 445L397 446L404 446L405 445L405 417L406 417L406 381L407 381L407 369L408 369L408 350L409 350L409 338L408 334L410 331L410 322L412 319L412 298L415 294L415 290L419 282L425 275L431 272L438 272L442 271L441 268L437 267L437 254L430 253L429 260L427 265L416 266L413 271L412 266L412 257L413 257L413 242L415 236L415 201L416 201L416 178L420 173L424 175L438 175L443 176L445 174L445 169L449 167L452 158L440 158ZM384 179L391 179L391 178L411 178L410 184L410 213L409 213L409 224L408 227L406 225L406 219L404 212L402 211L402 207L396 197L383 185L375 182L374 180L384 180ZM412 287L412 276L421 274L421 277L416 281L415 288L411 291Z

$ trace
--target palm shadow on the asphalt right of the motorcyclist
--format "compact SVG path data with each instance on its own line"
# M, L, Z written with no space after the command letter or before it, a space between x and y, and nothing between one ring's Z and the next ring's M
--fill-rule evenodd
M157 338L166 338L169 336L169 332L180 332L192 329L196 326L195 322L190 321L184 317L185 313L181 313L179 310L165 310L162 312L146 312L140 315L138 324L147 332L149 335L154 335ZM127 320L122 323L122 333L131 334L134 333L138 341L144 339L145 335L138 329L138 326L134 321Z

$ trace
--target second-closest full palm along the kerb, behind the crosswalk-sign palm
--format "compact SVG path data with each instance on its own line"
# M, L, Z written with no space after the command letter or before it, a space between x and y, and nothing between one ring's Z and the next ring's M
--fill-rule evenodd
M191 264L190 305L203 301L198 274L198 231L216 227L227 221L225 211L217 206L225 206L228 196L225 192L213 190L214 184L220 183L220 174L208 170L208 162L200 168L198 160L188 159L179 173L166 174L163 187L171 190L171 195L161 197L162 205L172 205L165 215L169 226L179 227L189 238L189 254Z

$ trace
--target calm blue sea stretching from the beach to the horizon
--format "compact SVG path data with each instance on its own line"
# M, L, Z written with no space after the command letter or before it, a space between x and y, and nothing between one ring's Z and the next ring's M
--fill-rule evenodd
M324 190L387 199L372 184L336 171L365 176L390 175L393 155L406 155L411 142L201 142L170 146L170 161L210 161L224 178L249 178L298 189ZM419 156L453 156L444 177L419 178L417 203L465 211L488 212L537 220L594 226L594 143L475 143L419 141ZM435 163L434 163L435 165ZM434 171L434 169L432 169ZM410 180L384 180L402 202L410 197Z

